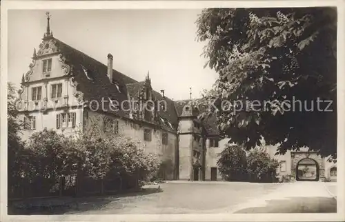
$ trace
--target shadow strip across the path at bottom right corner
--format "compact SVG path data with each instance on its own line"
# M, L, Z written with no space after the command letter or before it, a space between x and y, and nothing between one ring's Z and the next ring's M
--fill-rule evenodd
M284 200L270 200L266 203L264 207L246 208L235 214L337 212L337 200L329 197L292 197Z

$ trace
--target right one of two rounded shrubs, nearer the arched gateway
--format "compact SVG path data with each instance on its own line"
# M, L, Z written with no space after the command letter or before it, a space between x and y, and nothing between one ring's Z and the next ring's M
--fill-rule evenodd
M272 182L279 163L262 148L250 150L247 157L247 172L250 178L258 182Z

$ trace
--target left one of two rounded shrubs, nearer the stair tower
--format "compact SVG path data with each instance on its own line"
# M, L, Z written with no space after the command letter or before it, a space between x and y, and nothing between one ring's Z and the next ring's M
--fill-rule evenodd
M226 144L219 153L217 166L226 181L242 181L246 176L246 152L239 145Z

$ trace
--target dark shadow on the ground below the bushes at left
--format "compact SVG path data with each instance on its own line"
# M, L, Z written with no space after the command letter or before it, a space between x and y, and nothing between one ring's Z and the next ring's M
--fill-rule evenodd
M68 212L86 212L89 210L100 210L108 203L117 201L128 196L144 196L163 192L157 188L146 188L143 190L115 195L87 196L87 197L61 197L50 199L28 199L25 201L9 201L9 215L47 215L65 214Z

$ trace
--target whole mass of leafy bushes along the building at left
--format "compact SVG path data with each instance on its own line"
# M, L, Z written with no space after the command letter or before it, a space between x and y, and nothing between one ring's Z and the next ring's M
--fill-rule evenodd
M59 184L64 184L66 177L77 179L78 183L73 184L79 184L79 194L103 192L104 187L138 189L157 172L159 161L154 154L145 152L143 143L120 134L106 134L99 122L93 119L83 132L70 137L55 130L34 132L21 152L10 156L17 162L25 161L12 174L18 175L17 181L24 178L24 186L30 185L28 195L34 195L34 188L40 189L34 185L41 184L37 181L44 181L49 192L54 186L61 189ZM14 179L9 183L9 188L16 189Z

